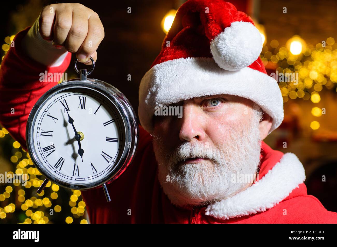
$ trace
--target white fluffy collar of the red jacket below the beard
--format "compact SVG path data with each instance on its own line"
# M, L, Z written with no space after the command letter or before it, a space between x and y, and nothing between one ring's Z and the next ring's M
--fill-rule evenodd
M219 219L266 211L285 199L305 180L302 163L294 153L285 153L259 181L233 197L209 205L206 215Z

